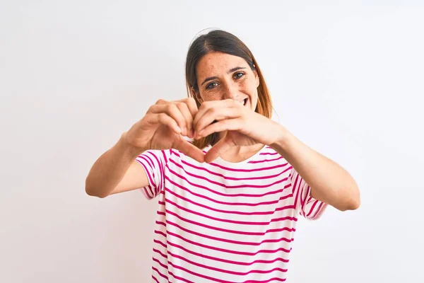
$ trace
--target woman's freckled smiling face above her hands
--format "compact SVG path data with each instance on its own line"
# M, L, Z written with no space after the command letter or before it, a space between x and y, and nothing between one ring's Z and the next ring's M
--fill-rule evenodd
M259 76L246 60L222 52L211 52L196 66L200 103L234 99L252 110L257 107Z

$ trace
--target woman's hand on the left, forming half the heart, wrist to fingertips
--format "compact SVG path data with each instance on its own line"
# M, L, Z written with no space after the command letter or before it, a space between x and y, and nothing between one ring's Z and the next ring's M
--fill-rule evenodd
M193 138L193 117L198 111L193 98L177 101L158 100L146 115L125 134L130 146L148 149L178 149L183 154L204 162L204 152L185 140Z

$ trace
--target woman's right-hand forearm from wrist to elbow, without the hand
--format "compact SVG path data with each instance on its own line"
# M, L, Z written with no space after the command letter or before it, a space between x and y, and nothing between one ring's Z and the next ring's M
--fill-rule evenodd
M360 204L358 185L352 176L337 163L310 149L287 129L271 147L290 163L311 187L311 194L341 211L357 209Z

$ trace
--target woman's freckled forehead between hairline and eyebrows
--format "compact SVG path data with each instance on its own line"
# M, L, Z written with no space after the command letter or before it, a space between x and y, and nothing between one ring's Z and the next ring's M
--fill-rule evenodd
M211 52L201 57L196 65L197 76L199 78L209 75L219 75L227 73L235 67L248 67L246 60L242 57L226 54L223 52Z

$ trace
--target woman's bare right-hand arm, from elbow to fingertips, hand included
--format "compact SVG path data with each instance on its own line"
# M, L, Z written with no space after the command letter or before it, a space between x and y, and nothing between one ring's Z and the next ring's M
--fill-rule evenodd
M194 120L197 137L228 131L209 149L206 162L215 160L231 146L267 144L293 166L310 186L311 196L315 200L342 211L359 207L358 185L351 175L334 161L302 144L277 122L232 99L202 103L197 116Z

